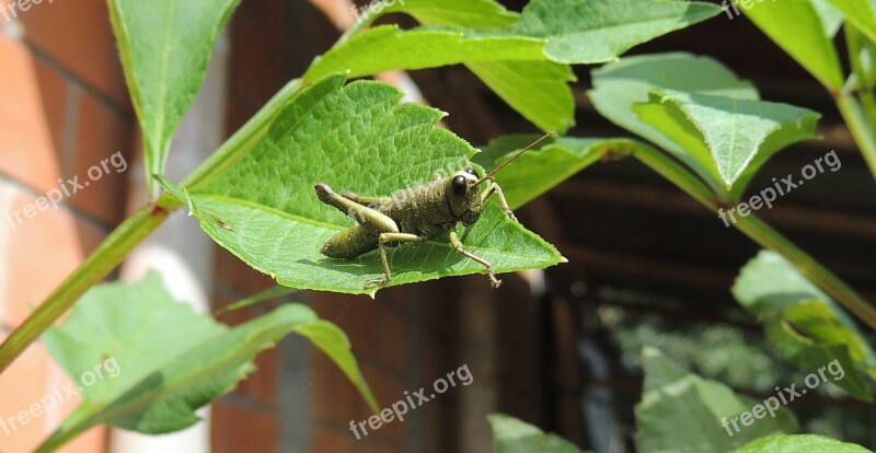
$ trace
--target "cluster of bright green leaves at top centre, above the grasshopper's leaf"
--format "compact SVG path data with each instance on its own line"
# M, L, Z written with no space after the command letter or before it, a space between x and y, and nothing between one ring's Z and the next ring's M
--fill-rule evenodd
M519 15L489 0L458 7L458 1L395 2L383 12L405 12L433 27L365 31L318 58L304 79L465 63L523 117L562 133L574 123L568 63L616 59L721 11L707 3L655 0L533 0Z

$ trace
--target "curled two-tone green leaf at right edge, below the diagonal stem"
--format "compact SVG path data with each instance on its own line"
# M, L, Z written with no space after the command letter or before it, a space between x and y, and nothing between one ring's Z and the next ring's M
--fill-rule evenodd
M807 373L835 361L827 379L856 398L872 399L876 355L849 316L791 263L762 251L741 269L733 294L758 315L788 361Z

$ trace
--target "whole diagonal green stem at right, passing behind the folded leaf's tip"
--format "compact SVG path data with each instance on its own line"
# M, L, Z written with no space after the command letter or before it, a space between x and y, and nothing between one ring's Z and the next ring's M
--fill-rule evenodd
M703 204L712 211L722 209L715 195L687 169L671 160L666 154L648 147L635 147L636 159L648 165L688 195ZM809 278L815 284L825 290L846 310L854 313L871 328L876 329L876 307L861 298L845 284L839 277L812 259L809 255L782 236L777 231L757 217L737 217L734 223L737 230L760 244L761 246L779 253L794 264L797 269Z

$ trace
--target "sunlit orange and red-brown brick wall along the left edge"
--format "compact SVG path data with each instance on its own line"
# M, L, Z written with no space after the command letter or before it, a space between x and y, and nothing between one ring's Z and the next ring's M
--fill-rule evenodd
M5 1L0 5L8 8ZM110 172L92 182L88 171L117 151L130 160L135 124L104 2L43 2L18 14L11 21L0 14L3 337L119 221L125 173ZM89 185L59 209L45 209L38 198L73 177ZM38 344L0 375L0 417L18 420L14 428L7 421L9 432L0 427L0 451L32 450L76 408L78 399L69 399L60 411L25 417L24 425L18 418L67 381ZM93 429L64 451L101 452L104 431Z

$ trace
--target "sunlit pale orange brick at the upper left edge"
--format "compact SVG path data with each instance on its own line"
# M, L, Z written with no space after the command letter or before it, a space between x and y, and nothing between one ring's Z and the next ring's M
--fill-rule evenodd
M37 191L56 187L60 169L37 86L34 61L0 35L0 174Z

